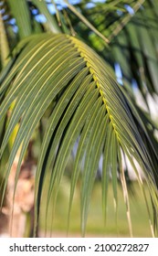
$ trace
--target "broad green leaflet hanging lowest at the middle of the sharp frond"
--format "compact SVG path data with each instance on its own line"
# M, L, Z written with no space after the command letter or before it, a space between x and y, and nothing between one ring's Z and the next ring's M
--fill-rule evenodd
M99 117L95 125L93 125L93 131L90 133L90 139L88 143L88 150L85 155L85 163L83 168L83 180L81 189L81 231L82 236L85 235L86 222L88 218L88 209L90 204L90 195L93 187L93 183L96 177L97 168L100 161L100 154L102 151L105 131L106 131L106 118L105 109L102 107L97 114ZM100 132L99 132L100 129Z

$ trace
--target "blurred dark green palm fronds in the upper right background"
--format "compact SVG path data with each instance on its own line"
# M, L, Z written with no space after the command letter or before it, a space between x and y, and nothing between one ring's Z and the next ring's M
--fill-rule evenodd
M113 67L118 63L122 80L131 85L135 81L144 99L147 91L151 95L158 93L157 1L106 1L95 3L90 8L87 5L88 1L81 1L79 11L110 39L110 51L104 48L100 37L91 33L88 27L83 27L75 16L70 16L79 36L85 38L90 47L95 48Z

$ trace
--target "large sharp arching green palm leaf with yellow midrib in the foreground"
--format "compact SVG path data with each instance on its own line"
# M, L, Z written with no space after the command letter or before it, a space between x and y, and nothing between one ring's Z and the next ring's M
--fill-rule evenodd
M78 138L79 146L72 171L69 214L79 170L82 169L82 234L85 233L90 195L101 154L104 159L102 175L104 213L110 173L117 210L117 176L121 168L120 152L123 150L131 161L134 158L141 165L151 193L153 211L157 216L156 150L154 151L154 145L149 139L139 113L115 81L114 74L103 59L79 39L62 34L29 37L18 46L13 55L16 61L13 68L6 67L7 77L3 75L0 87L0 95L3 95L0 120L3 120L9 106L15 101L1 145L1 157L16 123L19 123L4 173L5 187L18 153L17 182L29 141L41 118L47 109L51 108L37 163L35 228L43 181L52 169L47 192L48 212L52 195L56 204L58 187L67 165L68 155ZM6 89L7 93L5 93ZM135 171L137 172L136 168ZM124 182L123 179L123 189L125 189Z

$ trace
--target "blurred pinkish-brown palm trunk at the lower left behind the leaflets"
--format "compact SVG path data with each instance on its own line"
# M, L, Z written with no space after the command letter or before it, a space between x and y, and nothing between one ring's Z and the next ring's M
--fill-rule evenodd
M16 155L16 159L8 178L5 196L6 203L2 209L0 219L0 223L5 221L5 225L3 225L2 228L2 225L0 225L0 232L2 233L5 231L5 234L13 238L22 238L24 236L31 237L33 225L30 225L30 223L33 223L34 216L34 163L26 161L22 165L16 187L16 196L13 202L17 164L18 155ZM30 219L29 223L26 221L27 219ZM26 227L27 223L30 226L29 230L27 229L28 227Z

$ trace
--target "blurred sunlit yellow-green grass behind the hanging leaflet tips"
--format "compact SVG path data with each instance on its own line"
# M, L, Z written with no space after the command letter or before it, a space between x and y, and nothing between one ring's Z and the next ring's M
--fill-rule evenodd
M133 237L152 237L148 214L142 197L140 188L136 182L133 183L134 195L130 193L131 215ZM145 187L147 191L147 187ZM68 236L81 236L80 233L80 200L79 200L79 185L76 189L72 212L70 216L70 226ZM69 181L67 177L63 178L61 187L58 193L57 206L55 217L53 220L53 236L58 233L62 237L67 236L68 228L68 197L69 197ZM110 186L108 196L107 220L104 225L101 207L101 186L100 182L96 182L91 201L90 212L86 229L86 237L130 237L128 222L126 218L126 209L122 197L121 187L118 187L118 218L116 223L116 215L113 206L112 188ZM149 197L149 196L148 196ZM46 191L43 195L41 212L40 212L40 229L44 234L45 229L45 208L46 208ZM50 210L47 217L47 230L50 229L52 220L53 208L50 205ZM49 234L49 233L48 233Z

